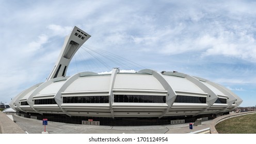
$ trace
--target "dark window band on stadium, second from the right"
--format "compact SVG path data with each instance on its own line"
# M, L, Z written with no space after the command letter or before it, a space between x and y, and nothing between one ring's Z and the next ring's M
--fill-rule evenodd
M180 96L178 95L174 102L180 103L206 103L205 97Z

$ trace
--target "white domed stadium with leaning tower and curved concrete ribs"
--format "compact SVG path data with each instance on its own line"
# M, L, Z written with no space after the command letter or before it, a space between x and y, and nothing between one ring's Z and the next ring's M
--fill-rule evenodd
M242 99L228 88L177 71L142 69L110 74L82 72L66 76L76 51L91 36L74 27L45 82L25 89L10 102L19 116L98 125L170 124L228 114Z

